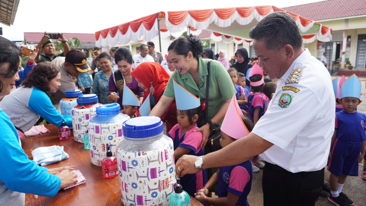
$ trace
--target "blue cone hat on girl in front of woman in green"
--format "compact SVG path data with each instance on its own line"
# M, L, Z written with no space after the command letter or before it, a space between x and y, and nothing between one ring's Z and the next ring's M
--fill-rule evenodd
M192 93L188 92L186 89L181 87L173 79L174 93L175 93L175 103L177 104L177 109L179 110L190 110L197 108L201 105L201 101L198 97L194 96Z

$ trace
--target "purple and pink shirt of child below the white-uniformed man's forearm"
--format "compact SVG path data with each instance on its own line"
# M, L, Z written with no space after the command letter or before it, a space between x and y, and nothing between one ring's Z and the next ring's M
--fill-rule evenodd
M227 197L228 192L240 196L236 205L249 206L249 195L253 170L250 160L234 166L220 167L217 196Z

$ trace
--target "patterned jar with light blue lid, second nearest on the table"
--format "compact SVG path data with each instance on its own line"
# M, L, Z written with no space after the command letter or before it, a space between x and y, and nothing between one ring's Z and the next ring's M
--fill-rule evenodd
M97 115L89 119L87 129L90 157L91 163L96 166L102 166L102 160L107 156L107 144L111 146L113 155L116 155L117 144L123 139L122 123L128 116L119 111L119 104L104 104L96 107Z

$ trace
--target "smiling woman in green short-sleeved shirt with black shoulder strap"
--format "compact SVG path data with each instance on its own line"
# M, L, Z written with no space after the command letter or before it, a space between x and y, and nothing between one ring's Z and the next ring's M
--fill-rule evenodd
M194 95L199 95L201 103L206 99L207 63L210 63L210 87L207 124L196 131L203 133L201 147L206 143L211 129L215 128L225 116L230 100L235 93L234 85L224 66L217 60L202 59L202 43L199 38L190 35L188 38L179 37L168 47L169 60L175 71L170 77L160 101L150 113L150 116L160 117L174 99L174 79L179 85ZM211 128L211 129L210 129ZM205 151L209 152L209 151Z

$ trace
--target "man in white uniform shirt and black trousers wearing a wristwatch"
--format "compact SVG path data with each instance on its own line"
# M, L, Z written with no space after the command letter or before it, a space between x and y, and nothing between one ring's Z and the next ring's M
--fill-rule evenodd
M253 131L229 146L176 163L179 176L230 166L258 155L263 170L264 205L315 205L324 180L335 125L335 96L328 71L302 49L294 18L269 14L249 33L259 66L277 89Z

